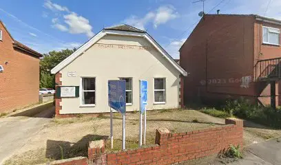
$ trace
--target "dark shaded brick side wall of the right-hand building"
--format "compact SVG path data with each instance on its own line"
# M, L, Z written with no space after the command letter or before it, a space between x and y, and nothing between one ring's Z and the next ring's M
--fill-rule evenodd
M241 88L242 76L253 76L254 17L205 15L180 49L185 103L194 98L253 96Z

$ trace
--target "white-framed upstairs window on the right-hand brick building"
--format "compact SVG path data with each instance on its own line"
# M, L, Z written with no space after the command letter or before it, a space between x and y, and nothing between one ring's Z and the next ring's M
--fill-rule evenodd
M262 43L280 45L280 29L263 26Z

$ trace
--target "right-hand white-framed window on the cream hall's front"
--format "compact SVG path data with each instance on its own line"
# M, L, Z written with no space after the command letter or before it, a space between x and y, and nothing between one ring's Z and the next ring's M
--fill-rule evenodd
M166 103L166 78L154 78L154 104Z

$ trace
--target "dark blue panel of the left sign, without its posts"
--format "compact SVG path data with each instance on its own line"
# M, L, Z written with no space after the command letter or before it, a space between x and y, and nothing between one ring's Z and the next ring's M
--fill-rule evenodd
M126 113L126 81L108 81L108 104L118 112Z

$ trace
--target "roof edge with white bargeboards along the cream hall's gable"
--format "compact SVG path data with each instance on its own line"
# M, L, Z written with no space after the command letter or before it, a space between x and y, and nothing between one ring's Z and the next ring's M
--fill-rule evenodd
M121 30L119 30L119 28ZM61 63L59 63L59 65L56 65L56 67L54 67L51 70L51 73L56 74L61 69L63 69L65 66L72 63L72 61L74 61L78 56L83 54L83 52L85 52L87 49L89 49L92 45L94 45L94 43L99 41L106 34L136 36L136 37L143 37L143 38L147 39L147 41L149 41L149 43L151 43L156 48L156 50L158 50L158 52L160 52L160 54L162 54L163 57L165 57L167 59L167 61L169 61L169 63L173 67L175 67L178 70L178 72L180 72L180 74L183 74L183 76L187 76L187 72L185 72L185 70L182 67L180 67L180 65L178 65L178 63L176 63L176 61L174 61L174 59L163 49L163 47L161 47L152 38L152 36L149 36L149 34L147 34L147 32L145 32L143 30L138 30L137 28L134 28L129 25L117 25L117 26L110 27L110 28L104 28L103 30L101 30L101 32L98 32L98 34L96 34L94 37L92 37L92 39L87 41L87 43L85 43L84 45L79 47L79 49L76 50L73 54L71 54L70 56L65 58L63 61L61 61Z

